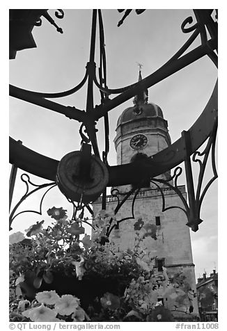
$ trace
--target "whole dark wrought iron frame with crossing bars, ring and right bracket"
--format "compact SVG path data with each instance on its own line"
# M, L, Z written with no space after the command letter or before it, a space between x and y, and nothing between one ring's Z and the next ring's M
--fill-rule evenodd
M102 12L101 10L93 10L92 26L91 26L91 47L90 47L90 57L86 65L86 72L84 78L80 83L74 88L64 92L57 93L46 93L46 92L33 92L29 90L23 90L16 86L10 85L10 96L16 97L17 99L22 99L26 102L36 104L43 108L61 113L66 117L82 122L79 134L81 135L81 142L90 142L93 147L93 152L96 156L100 157L100 151L97 145L96 136L96 122L100 118L104 117L104 131L105 131L105 148L102 153L102 161L107 165L109 170L109 184L108 186L121 186L126 184L139 184L141 178L138 177L137 181L134 179L134 173L141 173L145 177L152 178L152 181L158 186L157 177L162 173L175 168L175 166L185 161L185 169L187 176L187 186L189 191L189 207L186 206L185 202L182 200L185 206L185 213L189 219L188 225L191 229L198 228L198 224L201 222L199 218L199 213L201 209L201 202L203 197L208 190L212 181L217 178L217 171L214 163L214 125L217 127L217 84L214 87L214 91L208 104L205 106L201 116L196 120L194 125L189 129L189 131L183 131L182 137L179 138L171 146L167 147L165 150L151 156L146 160L141 160L136 163L128 163L125 165L108 165L108 153L109 153L109 118L108 112L111 109L119 106L128 99L134 97L138 92L146 88L154 86L159 81L166 79L166 77L171 76L175 72L178 72L187 65L194 63L194 61L202 58L203 56L209 56L214 65L217 67L217 22L212 18L214 10L198 10L194 9L194 15L196 22L190 16L182 22L182 32L192 33L188 38L185 45L183 45L176 53L169 59L162 67L160 67L152 74L148 75L146 78L139 82L133 83L130 86L125 86L123 88L111 89L107 86L107 65L106 65L106 55L104 49L104 27L102 22ZM217 10L216 10L217 18ZM43 14L42 14L43 15ZM63 13L61 11L61 16ZM194 23L194 24L193 24ZM100 66L98 68L98 78L96 74L96 64L95 64L95 43L96 43L96 29L97 24L99 25L100 31ZM193 25L191 25L193 24ZM208 33L210 34L210 39L208 38ZM192 49L185 54L185 51L189 49L194 40L200 35L201 45ZM80 110L76 107L63 106L49 99L54 99L56 97L65 97L72 95L77 92L84 84L88 82L87 97L86 97L86 110ZM96 86L100 90L101 103L94 106L93 104L93 88ZM117 94L118 96L114 99L110 99L110 95ZM204 122L206 125L204 126ZM87 136L83 133L83 128L86 129ZM217 129L215 129L217 130ZM216 131L215 131L216 132ZM216 135L216 134L215 134ZM209 138L210 137L210 138ZM198 148L203 145L205 140L208 141L208 146L205 151L200 154L196 152ZM205 171L205 165L207 163L208 154L210 148L212 147L212 164L214 170L214 177L210 179L205 190L201 194L201 184L203 181L203 174ZM201 172L199 175L199 184L196 192L196 197L194 195L194 183L191 172L191 161L190 156L194 154L193 161L197 162L196 156L204 156L203 162L198 161L201 167ZM29 150L24 145L20 145L13 138L10 138L10 163L15 165L22 170L37 175L39 177L55 181L56 169L58 166L58 161L51 159L47 156L38 154L32 150ZM176 179L178 178L175 175ZM160 182L160 181L159 181ZM171 185L166 182L166 185ZM174 186L173 186L174 187ZM177 186L175 188L177 191ZM36 191L36 190L34 190ZM130 193L131 194L131 193ZM123 199L125 201L125 198ZM121 203L121 202L120 202ZM106 207L106 191L102 195L102 208ZM164 207L165 209L165 207ZM116 211L117 212L117 211ZM196 219L196 221L194 221Z

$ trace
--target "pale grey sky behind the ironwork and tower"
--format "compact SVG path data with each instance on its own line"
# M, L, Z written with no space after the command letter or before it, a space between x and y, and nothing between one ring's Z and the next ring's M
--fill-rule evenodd
M64 10L65 17L54 17L63 34L57 33L54 26L42 19L42 26L34 27L33 38L37 48L18 51L15 60L10 60L9 81L11 84L38 92L61 92L68 90L83 79L86 63L89 60L91 37L91 10ZM107 55L107 86L120 88L138 79L138 63L143 65L142 76L154 72L185 43L189 34L182 33L180 26L192 10L146 10L141 15L134 11L119 28L118 21L123 13L117 10L102 10L105 45ZM197 38L193 48L200 45ZM98 46L96 62L99 63ZM193 63L168 79L148 89L149 101L158 104L169 123L172 142L180 138L182 130L194 124L208 102L217 80L217 69L208 56ZM114 97L114 96L113 96ZM86 108L86 86L69 97L54 99L65 106ZM100 104L100 94L95 90L95 104ZM22 102L10 97L9 133L15 140L22 140L26 147L53 159L61 159L65 154L80 149L79 123L64 115L45 108ZM132 99L109 112L110 152L109 164L116 165L114 137L116 122L125 108L132 106ZM103 145L103 120L97 124L97 139L100 150ZM24 186L19 179L23 172L18 170L12 207L24 194ZM198 170L194 168L194 175ZM205 179L209 180L208 167ZM36 183L47 182L32 176ZM179 184L186 184L185 177ZM23 209L37 209L40 195L34 195L24 202ZM13 232L27 229L37 220L45 219L51 207L70 208L58 188L48 194L43 204L43 216L22 214L13 223ZM217 260L217 181L208 190L201 209L198 232L191 232L191 245L196 265L196 277L204 271L210 275L214 266L218 271ZM70 211L69 211L70 213Z

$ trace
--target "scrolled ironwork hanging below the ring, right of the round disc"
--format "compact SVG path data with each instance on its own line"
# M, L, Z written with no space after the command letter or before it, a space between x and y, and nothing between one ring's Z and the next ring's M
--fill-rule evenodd
M206 143L205 149L203 152L194 152L192 155L192 158L190 158L189 154L189 146L187 144L189 143L189 136L187 131L182 131L182 136L185 138L185 175L187 179L187 195L188 200L185 198L185 196L180 191L180 188L178 186L178 178L180 175L182 175L182 167L178 166L174 169L173 175L169 177L169 179L160 179L160 178L150 178L150 183L154 184L157 187L157 190L162 195L162 212L167 211L169 209L181 209L185 215L187 216L188 223L187 225L191 227L191 229L196 232L198 230L198 225L203 222L200 218L201 214L201 205L203 202L203 198L205 197L205 193L208 191L208 188L212 184L212 182L217 179L217 168L215 163L215 143L216 143L216 137L217 137L217 119L214 122L214 128L212 130L212 133L210 134L210 137L208 138L208 141ZM212 165L212 172L213 177L208 181L208 183L205 185L205 187L202 190L202 184L203 184L203 177L205 174L205 168L208 163L208 157L211 155L211 165ZM200 159L196 159L196 157L203 157L203 161ZM198 183L196 188L196 194L194 191L194 177L192 175L191 170L191 159L194 163L198 162L199 164L199 174L198 174ZM163 186L160 186L162 184ZM180 197L180 200L182 201L182 206L170 206L166 207L166 200L165 200L165 194L164 194L164 188L169 187L171 190L175 192L178 197ZM146 189L146 191L151 191L152 188ZM121 220L117 221L117 226L123 222L124 220L130 220L135 219L134 217L134 204L136 201L136 197L138 196L139 192L141 191L141 188L132 188L130 191L125 193L120 193L118 188L114 188L111 190L111 196L116 197L116 208L114 209L114 213L117 214L120 208L123 206L125 201L131 199L132 200L132 206L131 206L131 216L127 216L125 218L122 218ZM120 200L119 196L123 196L123 200ZM112 219L110 220L110 226L107 230L107 236L111 234L111 232L116 228L116 224L112 225Z

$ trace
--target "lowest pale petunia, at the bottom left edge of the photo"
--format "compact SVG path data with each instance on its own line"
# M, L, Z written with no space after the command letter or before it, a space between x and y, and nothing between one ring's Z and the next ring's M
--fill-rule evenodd
M56 318L56 314L54 309L45 307L43 304L22 312L23 316L30 318L33 322L52 322Z

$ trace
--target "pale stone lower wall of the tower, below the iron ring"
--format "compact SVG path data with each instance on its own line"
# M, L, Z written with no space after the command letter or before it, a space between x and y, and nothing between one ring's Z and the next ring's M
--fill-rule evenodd
M180 191L186 197L185 186L180 186ZM166 207L183 207L180 197L169 188L164 188ZM116 198L107 197L107 210L112 211L116 208ZM102 209L101 200L93 204L93 211L97 213ZM123 218L132 216L132 199L127 200L123 207L116 214L119 221ZM187 217L185 213L178 208L169 209L162 212L162 196L158 190L142 190L134 204L135 218L123 220L119 224L119 229L111 233L111 241L117 245L119 250L133 249L135 245L134 223L138 218L142 218L144 223L155 224L155 217L159 216L160 225L157 226L157 240L147 237L143 241L144 247L150 252L150 257L164 259L164 266L167 273L178 273L183 271L187 283L191 289L196 292L196 279L194 273L194 264L191 253L191 239L189 227L187 227ZM155 259L154 266L155 266ZM165 298L166 300L166 298ZM165 303L168 307L168 298ZM194 314L198 314L197 299L193 300Z

